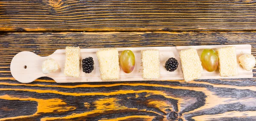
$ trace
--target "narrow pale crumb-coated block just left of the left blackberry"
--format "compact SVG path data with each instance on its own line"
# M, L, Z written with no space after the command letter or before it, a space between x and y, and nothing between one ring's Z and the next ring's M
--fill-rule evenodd
M80 48L66 47L66 61L64 67L64 74L70 77L80 77Z

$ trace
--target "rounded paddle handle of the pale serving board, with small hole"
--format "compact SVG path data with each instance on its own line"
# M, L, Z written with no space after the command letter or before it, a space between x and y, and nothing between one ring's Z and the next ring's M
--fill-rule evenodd
M47 58L49 56L41 57L28 51L18 53L11 62L12 76L21 83L30 83L45 76L41 66Z

